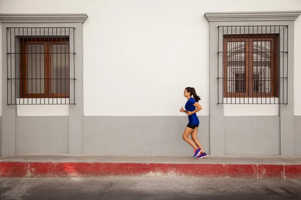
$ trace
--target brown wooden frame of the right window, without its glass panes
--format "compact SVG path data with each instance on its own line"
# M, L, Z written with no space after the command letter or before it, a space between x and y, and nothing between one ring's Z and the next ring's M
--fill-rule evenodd
M227 92L227 42L245 42L245 92ZM270 90L271 92L253 92L253 41L270 41ZM224 35L223 37L223 67L224 67L224 97L278 97L278 34L253 34L253 35ZM243 51L242 51L243 52ZM251 67L249 67L251 66ZM231 80L230 80L231 81ZM251 91L251 92L249 92Z

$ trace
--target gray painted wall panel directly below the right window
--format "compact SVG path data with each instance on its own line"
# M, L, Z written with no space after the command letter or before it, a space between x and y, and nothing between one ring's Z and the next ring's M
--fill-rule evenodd
M280 154L279 116L226 116L225 154Z

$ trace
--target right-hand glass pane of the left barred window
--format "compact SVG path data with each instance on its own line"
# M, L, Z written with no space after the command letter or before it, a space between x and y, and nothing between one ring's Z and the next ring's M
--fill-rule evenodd
M69 44L51 45L52 93L69 93Z

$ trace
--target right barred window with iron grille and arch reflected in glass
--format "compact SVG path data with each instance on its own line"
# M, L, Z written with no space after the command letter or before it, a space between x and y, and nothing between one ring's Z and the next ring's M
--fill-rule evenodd
M219 26L220 33L218 103L286 103L287 26Z

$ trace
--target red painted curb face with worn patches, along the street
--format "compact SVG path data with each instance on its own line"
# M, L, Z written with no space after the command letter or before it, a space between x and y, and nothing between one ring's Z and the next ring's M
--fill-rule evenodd
M175 175L194 177L301 178L301 165L172 164L114 162L0 162L0 177Z

